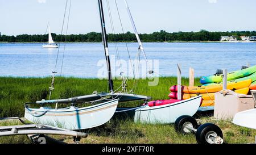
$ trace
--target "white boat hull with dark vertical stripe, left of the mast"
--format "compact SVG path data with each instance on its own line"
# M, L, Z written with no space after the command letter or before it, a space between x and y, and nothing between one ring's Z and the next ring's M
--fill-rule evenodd
M114 115L117 105L118 99L83 108L25 108L24 117L30 122L54 127L88 129L108 122Z

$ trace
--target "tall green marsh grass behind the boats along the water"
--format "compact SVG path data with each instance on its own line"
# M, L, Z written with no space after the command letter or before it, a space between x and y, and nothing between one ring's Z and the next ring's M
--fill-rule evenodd
M51 86L51 77L47 78L12 78L0 77L0 118L10 116L23 116L25 102L48 99ZM175 77L163 77L159 79L159 85L148 86L148 80L140 79L135 93L148 95L152 99L168 99L168 89L175 85ZM199 81L199 79L196 79ZM184 85L188 85L188 79L184 78ZM196 83L199 85L199 82ZM120 80L114 80L115 88L121 85ZM127 83L128 91L132 89L133 81ZM70 98L79 95L92 94L93 91L108 91L108 81L88 78L55 78L55 90L52 92L52 99ZM157 93L156 93L157 92ZM121 106L138 106L128 103Z

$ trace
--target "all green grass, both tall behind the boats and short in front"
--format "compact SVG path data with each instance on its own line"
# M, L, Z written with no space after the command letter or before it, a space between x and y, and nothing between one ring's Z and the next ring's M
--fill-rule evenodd
M148 95L154 99L168 99L170 86L175 85L176 77L161 77L157 86L148 86L148 80L139 80L135 93ZM51 77L47 78L13 78L0 77L0 118L24 115L25 102L48 99L48 87L51 85ZM182 79L183 85L188 85L188 78ZM114 80L114 86L118 87L121 81ZM195 79L195 85L199 85L199 78ZM127 83L129 89L133 81ZM93 91L103 92L108 90L106 80L85 78L56 77L55 90L52 99L69 98L77 95L92 94ZM141 104L141 103L139 103ZM138 106L135 103L126 103L121 106ZM254 143L256 131L238 127L230 121L216 120L204 116L198 120L201 123L212 122L224 132L226 143ZM0 121L0 126L19 124L18 121ZM82 139L82 143L196 143L191 135L180 135L175 132L172 124L142 124L133 120L110 120L101 127L87 130L89 136ZM72 143L72 137L54 136ZM0 137L0 143L29 143L26 136Z

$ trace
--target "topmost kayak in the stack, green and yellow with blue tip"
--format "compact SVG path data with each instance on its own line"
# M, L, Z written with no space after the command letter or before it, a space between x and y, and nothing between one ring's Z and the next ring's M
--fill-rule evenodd
M256 66L252 66L250 68L241 69L241 70L237 70L237 71L228 73L227 79L228 79L228 81L231 81L233 79L250 76L251 74L253 74L255 72L256 72ZM200 79L200 83L206 84L206 83L222 82L222 77L223 77L223 74L219 74L219 75L215 74L213 76L202 77Z

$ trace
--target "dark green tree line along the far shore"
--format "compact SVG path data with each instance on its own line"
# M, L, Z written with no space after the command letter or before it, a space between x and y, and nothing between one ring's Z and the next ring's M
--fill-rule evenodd
M209 32L201 30L199 32L166 32L161 30L150 34L139 34L144 42L163 42L163 41L220 41L221 36L234 36L237 40L241 40L240 36L256 36L256 31L231 31L231 32ZM57 35L52 33L53 40L56 42L101 42L101 33L90 32L79 35ZM109 41L117 42L132 42L137 41L134 33L118 33L108 34ZM1 35L2 42L47 42L48 34L46 35L17 35L7 36Z

